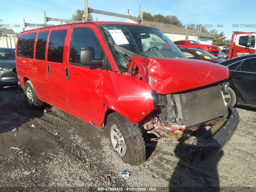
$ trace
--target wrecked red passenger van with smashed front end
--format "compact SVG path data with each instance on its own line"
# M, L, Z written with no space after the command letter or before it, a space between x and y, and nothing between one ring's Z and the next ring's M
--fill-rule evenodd
M20 86L30 108L55 106L95 127L132 165L145 141L191 146L190 160L216 155L239 122L223 92L230 73L186 59L160 30L123 22L86 22L21 32Z

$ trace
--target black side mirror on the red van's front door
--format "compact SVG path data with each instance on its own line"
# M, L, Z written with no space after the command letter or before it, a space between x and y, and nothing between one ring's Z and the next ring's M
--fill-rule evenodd
M95 59L94 48L82 47L80 51L80 62L82 65L102 66L103 59Z

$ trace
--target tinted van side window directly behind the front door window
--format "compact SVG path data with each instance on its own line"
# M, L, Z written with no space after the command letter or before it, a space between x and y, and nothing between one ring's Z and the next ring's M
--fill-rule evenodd
M63 62L63 51L66 34L67 30L56 30L51 32L48 44L48 61L57 63Z

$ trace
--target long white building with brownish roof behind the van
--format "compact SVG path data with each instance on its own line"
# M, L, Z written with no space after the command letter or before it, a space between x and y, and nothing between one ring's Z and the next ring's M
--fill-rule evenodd
M135 20L126 19L124 22L137 23ZM201 44L212 45L212 40L214 36L207 34L205 32L200 32L191 29L184 29L172 24L164 24L152 21L144 21L141 22L142 25L150 26L161 30L170 40L178 41L178 40L195 40L200 42Z

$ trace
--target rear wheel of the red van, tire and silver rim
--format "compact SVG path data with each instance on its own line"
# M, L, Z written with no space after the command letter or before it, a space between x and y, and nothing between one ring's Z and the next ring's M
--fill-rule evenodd
M44 106L45 103L37 98L34 86L30 80L26 81L24 85L24 94L29 108L38 109Z

